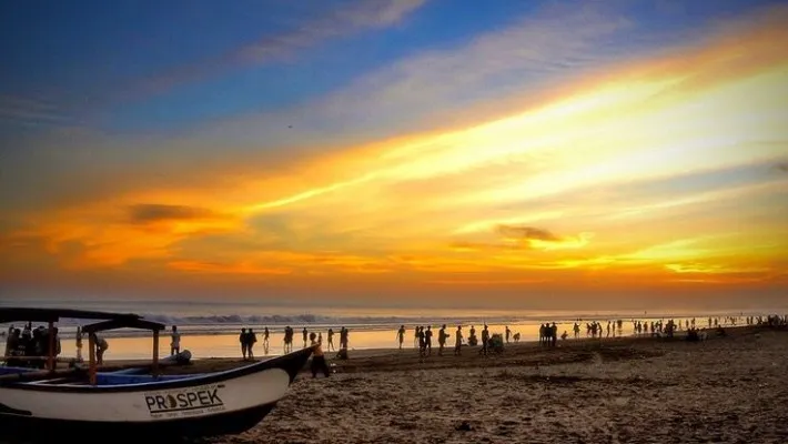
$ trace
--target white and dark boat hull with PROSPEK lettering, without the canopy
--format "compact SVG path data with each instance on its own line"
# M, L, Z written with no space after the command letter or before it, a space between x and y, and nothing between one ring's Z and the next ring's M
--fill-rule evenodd
M101 436L95 435L100 430L135 436L240 433L269 414L311 353L306 349L226 372L152 383L6 384L0 386L0 430L26 436L40 431Z

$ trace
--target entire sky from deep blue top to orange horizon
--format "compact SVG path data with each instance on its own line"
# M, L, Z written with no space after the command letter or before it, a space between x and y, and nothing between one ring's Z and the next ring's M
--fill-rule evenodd
M785 1L0 6L0 299L788 307Z

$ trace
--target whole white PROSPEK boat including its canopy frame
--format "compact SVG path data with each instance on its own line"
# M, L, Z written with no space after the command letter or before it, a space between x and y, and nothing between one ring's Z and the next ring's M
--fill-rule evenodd
M26 316L20 317L22 314ZM135 315L0 309L0 323L26 320L51 325L60 317L85 316L110 316L82 329L89 334L91 346L87 371L55 371L50 366L44 372L0 376L0 431L3 434L13 432L29 437L43 432L49 436L73 433L104 438L123 435L161 438L240 433L271 412L312 354L312 349L304 349L223 372L156 376L154 353L153 375L102 374L92 353L94 333L138 327L153 331L158 340L164 325ZM158 341L154 341L156 350Z

